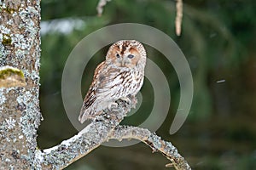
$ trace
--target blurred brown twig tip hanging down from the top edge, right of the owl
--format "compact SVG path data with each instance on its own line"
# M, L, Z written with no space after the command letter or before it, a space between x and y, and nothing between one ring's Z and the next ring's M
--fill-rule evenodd
M176 28L177 36L180 36L180 34L181 34L182 22L183 22L183 0L177 0L176 19L175 19L175 28Z

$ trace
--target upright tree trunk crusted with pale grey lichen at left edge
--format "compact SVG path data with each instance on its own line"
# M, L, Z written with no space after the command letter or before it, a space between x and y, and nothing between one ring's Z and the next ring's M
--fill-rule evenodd
M40 1L0 2L0 165L27 169L37 148L39 111ZM6 67L7 65L12 67ZM5 66L5 67L3 67ZM23 83L4 82L20 70ZM19 76L18 74L18 76ZM21 81L22 82L22 81Z

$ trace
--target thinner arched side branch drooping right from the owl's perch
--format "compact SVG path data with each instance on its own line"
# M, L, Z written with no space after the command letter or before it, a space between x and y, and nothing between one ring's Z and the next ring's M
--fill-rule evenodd
M172 164L167 164L166 167L172 165L172 167L176 169L191 169L188 162L177 152L177 149L171 142L162 140L148 129L142 127L117 126L108 139L138 139L148 144L153 151L160 151L168 160L172 161Z

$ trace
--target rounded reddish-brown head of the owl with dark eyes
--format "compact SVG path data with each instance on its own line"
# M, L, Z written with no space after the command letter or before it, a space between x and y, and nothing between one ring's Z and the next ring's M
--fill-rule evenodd
M146 57L146 50L142 43L136 40L120 40L108 49L106 61L118 67L144 69Z

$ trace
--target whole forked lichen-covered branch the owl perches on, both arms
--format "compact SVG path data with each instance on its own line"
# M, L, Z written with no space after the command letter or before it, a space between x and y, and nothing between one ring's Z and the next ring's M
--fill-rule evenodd
M177 153L177 149L160 137L140 127L119 126L126 113L137 104L137 99L132 99L131 104L119 100L117 107L103 111L96 121L84 127L77 135L67 139L52 148L37 150L34 167L40 169L61 169L73 161L86 156L91 150L96 149L108 139L139 139L148 144L154 151L160 151L167 159L172 161L176 169L190 169L187 161Z

